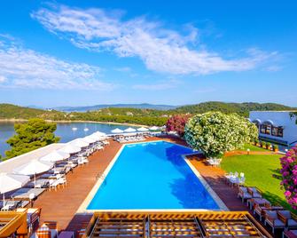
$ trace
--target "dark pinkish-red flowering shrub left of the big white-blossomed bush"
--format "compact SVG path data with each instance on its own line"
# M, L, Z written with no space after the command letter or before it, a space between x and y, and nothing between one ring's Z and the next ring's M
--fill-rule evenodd
M181 137L184 137L184 126L189 121L191 115L173 115L166 123L166 131L176 131Z

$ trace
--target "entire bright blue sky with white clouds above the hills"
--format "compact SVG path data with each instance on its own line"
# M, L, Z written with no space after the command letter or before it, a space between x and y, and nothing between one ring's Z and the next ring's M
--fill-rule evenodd
M296 12L295 1L2 1L0 101L297 107Z

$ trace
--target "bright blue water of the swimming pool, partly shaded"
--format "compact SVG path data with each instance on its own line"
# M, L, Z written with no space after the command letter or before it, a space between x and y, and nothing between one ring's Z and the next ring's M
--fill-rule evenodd
M181 156L191 153L165 141L125 146L87 209L218 209Z

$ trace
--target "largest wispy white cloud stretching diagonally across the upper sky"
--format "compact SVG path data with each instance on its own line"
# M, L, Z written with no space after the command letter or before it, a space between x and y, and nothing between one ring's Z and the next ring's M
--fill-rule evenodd
M206 75L223 71L244 71L258 67L276 52L246 51L243 58L223 59L207 50L194 49L197 28L187 36L163 28L144 17L121 20L121 15L102 9L77 9L57 5L40 9L32 17L51 32L66 37L80 48L110 51L120 57L138 57L153 71L170 74Z

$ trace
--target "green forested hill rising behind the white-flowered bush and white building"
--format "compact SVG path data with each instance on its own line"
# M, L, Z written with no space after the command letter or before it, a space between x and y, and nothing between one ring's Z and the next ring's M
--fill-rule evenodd
M287 107L277 103L226 103L220 101L208 101L196 105L177 107L175 110L170 110L170 112L179 114L200 114L207 111L221 111L227 114L238 113L239 115L248 116L250 111L290 111L296 109L296 107Z

